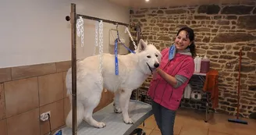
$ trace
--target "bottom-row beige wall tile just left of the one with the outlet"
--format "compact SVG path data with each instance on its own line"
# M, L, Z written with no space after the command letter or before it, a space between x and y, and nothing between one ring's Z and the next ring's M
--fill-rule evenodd
M7 119L9 135L39 135L39 108Z

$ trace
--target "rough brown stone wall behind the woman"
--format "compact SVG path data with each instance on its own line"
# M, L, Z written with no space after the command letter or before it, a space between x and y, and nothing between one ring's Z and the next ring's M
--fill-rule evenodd
M130 23L140 23L144 40L160 50L172 44L180 27L193 28L197 55L207 55L211 59L211 68L219 71L219 108L216 111L229 115L236 114L239 51L242 49L240 115L248 117L256 111L255 5L255 1L247 1L133 9L130 11ZM202 87L202 83L196 83L197 80L191 79L193 88ZM150 81L151 77L140 90L147 92ZM198 108L194 101L183 100L181 106Z

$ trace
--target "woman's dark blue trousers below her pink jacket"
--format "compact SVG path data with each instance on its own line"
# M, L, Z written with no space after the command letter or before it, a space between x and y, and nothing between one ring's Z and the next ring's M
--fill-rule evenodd
M169 110L155 101L152 101L151 105L155 115L155 121L162 135L173 135L176 111Z

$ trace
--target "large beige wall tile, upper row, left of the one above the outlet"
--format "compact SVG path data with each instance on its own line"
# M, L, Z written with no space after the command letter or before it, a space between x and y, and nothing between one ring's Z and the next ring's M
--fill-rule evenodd
M5 82L6 117L38 107L37 77Z

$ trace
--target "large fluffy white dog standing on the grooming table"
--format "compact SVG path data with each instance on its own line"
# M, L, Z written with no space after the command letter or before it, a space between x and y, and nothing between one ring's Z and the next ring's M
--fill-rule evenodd
M97 107L101 99L103 88L115 93L115 112L122 112L123 121L132 124L133 120L128 115L130 95L134 89L140 85L159 66L161 53L153 44L148 44L140 40L137 44L136 53L128 55L118 55L119 75L115 70L115 55L104 54L103 58L103 85L99 83L101 77L99 72L98 55L87 57L77 62L76 67L76 109L77 126L83 119L98 128L105 126L105 123L96 121L93 117L94 108ZM71 68L66 74L66 87L69 100L72 102L72 76ZM71 104L72 105L72 104ZM72 108L66 118L66 126L72 127Z

